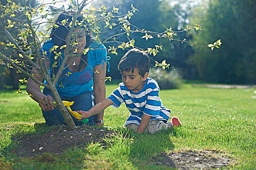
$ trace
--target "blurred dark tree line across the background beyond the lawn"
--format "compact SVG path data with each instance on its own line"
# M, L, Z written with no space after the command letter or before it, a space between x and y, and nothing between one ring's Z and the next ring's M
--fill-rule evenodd
M35 5L35 0L28 0ZM33 3L32 3L33 2ZM188 43L168 40L167 38L149 38L145 43L139 34L133 34L137 46L142 49L155 44L162 45L162 50L151 55L152 60L161 62L166 59L172 67L180 70L184 79L202 80L209 83L256 83L256 2L254 0L123 0L115 4L119 15L127 13L131 3L138 9L130 22L133 25L154 32L165 28L174 31L201 25L202 30L178 34L176 39L195 44L208 44L221 39L222 47L211 51L209 48L193 47ZM1 1L4 3L4 1ZM113 0L97 0L94 3L112 5ZM106 28L107 31L107 28ZM117 30L118 32L118 30ZM15 34L15 33L13 33ZM108 36L107 32L102 38ZM0 48L5 48L6 38L0 32ZM124 37L125 38L125 37ZM106 46L111 44L106 44ZM146 50L146 49L145 49ZM126 51L119 50L118 55L109 54L112 79L120 79L117 64ZM154 67L154 66L152 66ZM0 65L0 88L17 88L16 71ZM19 85L18 85L19 86Z

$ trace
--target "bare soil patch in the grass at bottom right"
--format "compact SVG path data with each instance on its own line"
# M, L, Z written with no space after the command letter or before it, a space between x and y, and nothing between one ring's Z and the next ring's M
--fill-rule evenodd
M227 167L234 160L224 152L198 150L160 153L153 157L153 162L177 170L212 170Z

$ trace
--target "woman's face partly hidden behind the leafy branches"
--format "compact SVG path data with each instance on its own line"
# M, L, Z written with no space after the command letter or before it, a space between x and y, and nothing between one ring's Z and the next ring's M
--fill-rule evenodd
M82 52L86 45L86 34L84 31L83 32L81 32L81 31L82 30L79 28L75 29L74 34L73 34L73 36L75 36L75 41L74 41L75 45L74 46L77 47L78 53ZM68 35L66 37L66 44L68 43L67 41L68 41Z

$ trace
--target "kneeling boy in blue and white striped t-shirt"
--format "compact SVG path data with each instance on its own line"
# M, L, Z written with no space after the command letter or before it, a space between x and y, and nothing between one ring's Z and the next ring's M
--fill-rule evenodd
M125 102L130 116L123 126L135 132L154 133L180 125L176 117L167 123L171 111L161 103L158 83L148 78L150 59L146 53L138 49L126 52L118 64L118 69L122 74L123 83L120 83L107 99L87 112L77 111L83 115L80 119L96 115L110 105L118 108L122 102Z

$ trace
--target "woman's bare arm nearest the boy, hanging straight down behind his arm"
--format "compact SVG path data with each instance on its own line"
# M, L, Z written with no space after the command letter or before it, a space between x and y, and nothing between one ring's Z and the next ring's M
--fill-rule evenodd
M102 65L97 65L94 67L95 73L93 74L93 90L94 90L94 98L95 105L99 102L102 102L106 98L106 87L105 87L105 77L106 77L106 67L107 63L103 63ZM97 71L97 72L96 72ZM101 111L96 116L96 121L103 120L104 111ZM103 126L101 123L97 123L97 125Z

